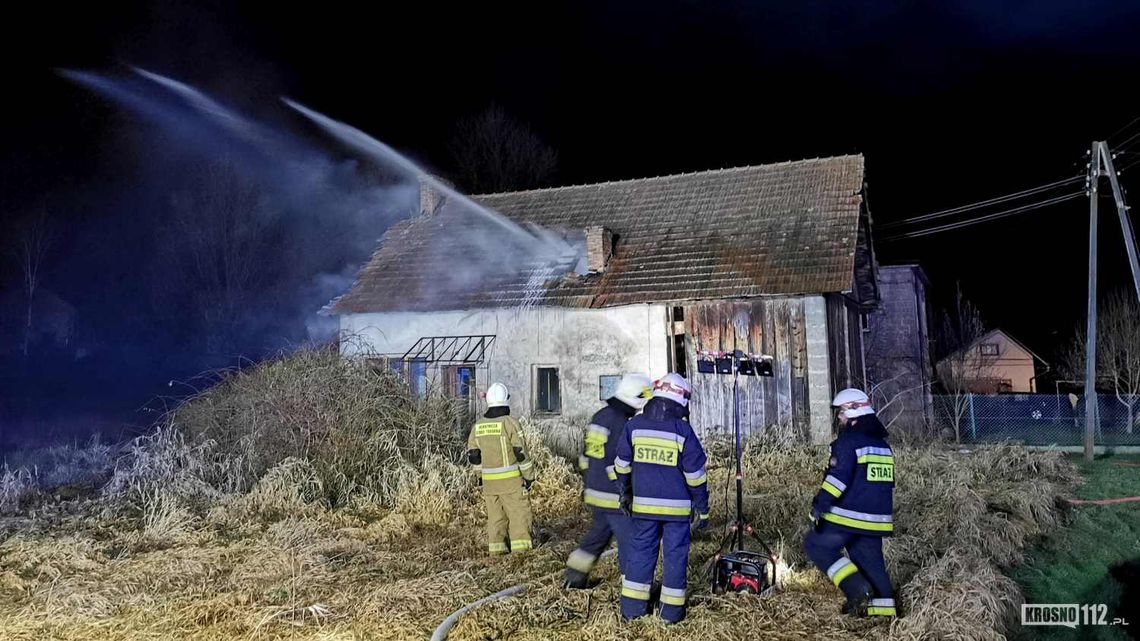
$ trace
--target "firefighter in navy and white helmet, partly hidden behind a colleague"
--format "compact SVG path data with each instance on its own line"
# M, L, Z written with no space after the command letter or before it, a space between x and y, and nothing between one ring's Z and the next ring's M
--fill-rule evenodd
M605 407L594 414L586 428L585 447L578 456L578 468L586 477L585 503L593 509L594 520L578 542L578 547L567 559L567 587L583 589L588 585L589 570L611 538L618 542L618 567L625 569L626 553L622 545L629 518L621 513L618 502L618 476L613 471L613 456L626 421L645 406L652 389L653 379L649 374L621 376L613 396L606 399Z

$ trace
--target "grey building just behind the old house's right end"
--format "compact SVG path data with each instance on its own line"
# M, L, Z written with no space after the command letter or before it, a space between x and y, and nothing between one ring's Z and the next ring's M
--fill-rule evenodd
M866 373L880 417L918 431L931 424L930 281L918 265L878 268L879 308L866 317Z

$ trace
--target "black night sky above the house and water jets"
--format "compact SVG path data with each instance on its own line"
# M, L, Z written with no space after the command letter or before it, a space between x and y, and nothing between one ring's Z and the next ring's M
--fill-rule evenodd
M1081 173L1092 139L1140 115L1140 5L1122 0L286 6L41 3L9 23L0 216L48 203L66 221L66 252L89 258L54 267L54 289L131 314L99 303L132 267L89 230L130 227L121 195L165 153L60 67L139 65L282 127L291 96L443 175L456 120L490 103L559 152L559 184L858 152L877 224ZM921 262L939 297L960 282L1048 357L1084 314L1086 225L1082 198L877 252ZM1115 219L1101 229L1107 291L1126 261Z

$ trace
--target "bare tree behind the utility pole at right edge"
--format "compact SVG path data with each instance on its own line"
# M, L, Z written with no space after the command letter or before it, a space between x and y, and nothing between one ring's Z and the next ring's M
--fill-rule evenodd
M1077 330L1061 355L1060 373L1074 381L1084 379L1085 334ZM1127 413L1125 431L1132 433L1140 405L1140 305L1131 292L1117 291L1105 301L1097 316L1097 387L1113 390Z

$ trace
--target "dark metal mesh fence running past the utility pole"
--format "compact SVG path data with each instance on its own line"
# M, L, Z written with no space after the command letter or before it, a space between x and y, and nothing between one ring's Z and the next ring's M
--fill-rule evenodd
M1140 446L1140 396L1098 395L1096 409L1097 445ZM963 443L1078 446L1084 439L1085 411L1084 397L1064 393L934 397L935 422L956 430Z

